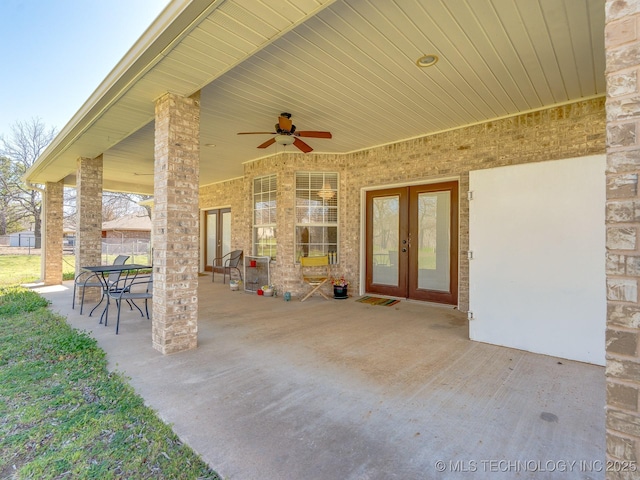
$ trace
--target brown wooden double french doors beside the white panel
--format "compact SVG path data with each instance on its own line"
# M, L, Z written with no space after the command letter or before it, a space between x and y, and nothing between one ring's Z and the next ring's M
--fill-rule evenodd
M367 293L458 303L458 183L367 192Z

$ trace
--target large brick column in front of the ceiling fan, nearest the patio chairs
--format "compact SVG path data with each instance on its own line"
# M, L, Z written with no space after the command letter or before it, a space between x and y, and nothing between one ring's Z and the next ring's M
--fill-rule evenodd
M200 96L156 102L153 207L153 347L197 346Z

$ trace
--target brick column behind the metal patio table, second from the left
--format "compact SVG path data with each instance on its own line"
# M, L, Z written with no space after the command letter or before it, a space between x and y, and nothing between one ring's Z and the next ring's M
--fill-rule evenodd
M76 275L83 265L102 264L102 155L79 158L76 169ZM78 290L76 301L82 292ZM100 298L100 289L89 288L85 301Z

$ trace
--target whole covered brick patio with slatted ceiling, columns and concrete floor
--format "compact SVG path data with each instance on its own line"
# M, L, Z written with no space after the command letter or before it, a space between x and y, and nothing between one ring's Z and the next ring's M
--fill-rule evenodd
M70 321L232 478L592 467L605 442L637 469L638 2L270 3L170 1L25 173L52 286L64 188L78 273L102 192L153 195L153 321ZM294 296L313 253L403 300L216 294L199 275L232 249Z

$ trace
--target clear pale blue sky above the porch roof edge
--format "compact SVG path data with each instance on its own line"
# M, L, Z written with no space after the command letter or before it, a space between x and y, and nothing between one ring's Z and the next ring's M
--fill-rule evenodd
M169 0L0 0L0 135L59 132Z

